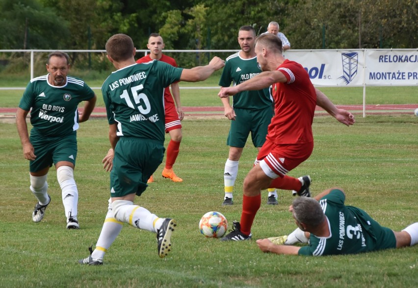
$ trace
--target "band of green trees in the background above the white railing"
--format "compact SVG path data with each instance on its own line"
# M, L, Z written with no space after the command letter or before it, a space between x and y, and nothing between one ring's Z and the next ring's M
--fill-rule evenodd
M416 0L0 0L0 49L104 49L115 33L146 49L237 49L237 31L280 24L293 49L417 48Z

